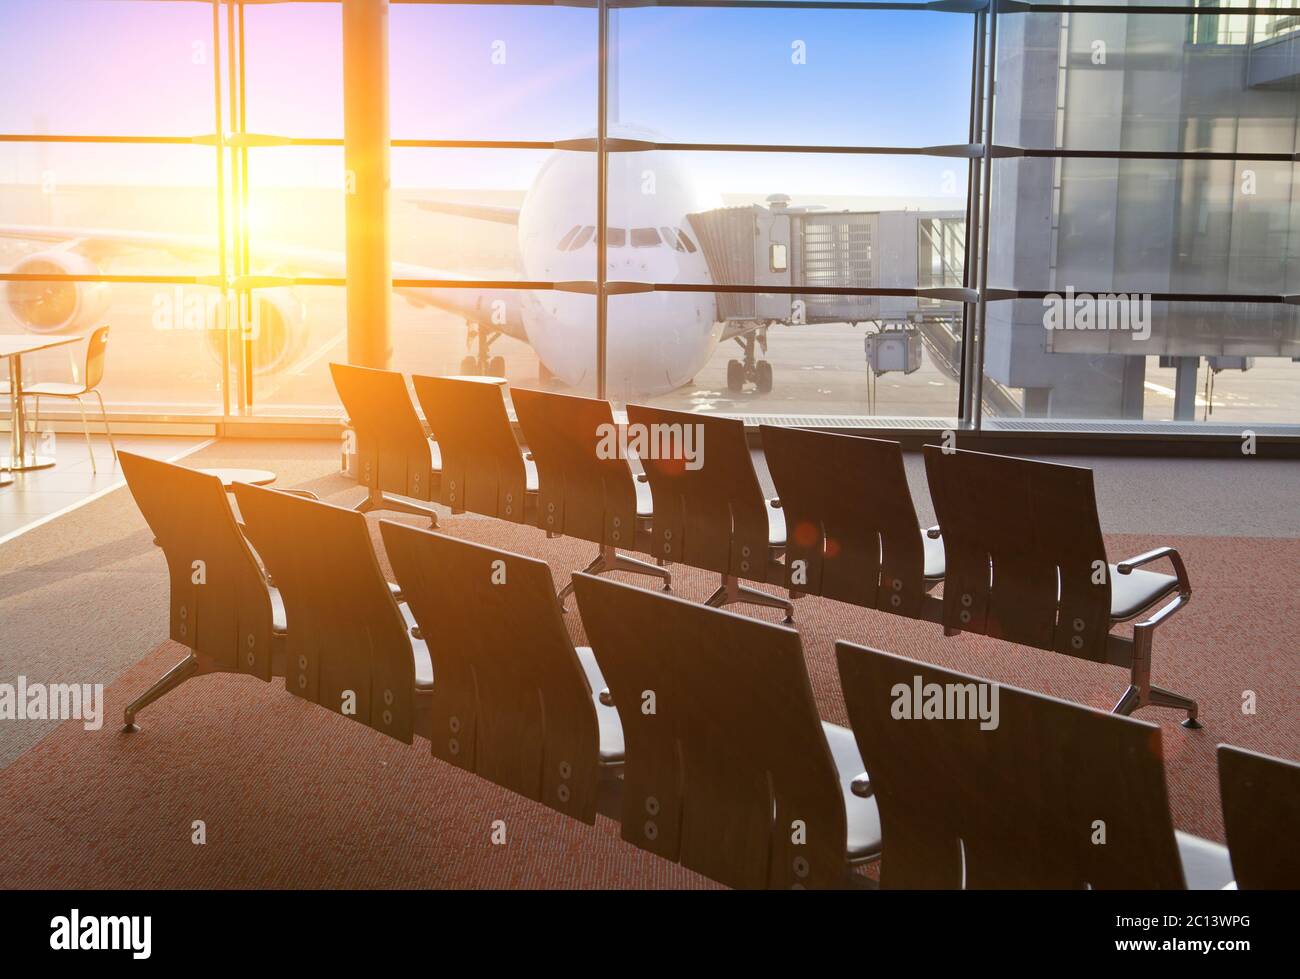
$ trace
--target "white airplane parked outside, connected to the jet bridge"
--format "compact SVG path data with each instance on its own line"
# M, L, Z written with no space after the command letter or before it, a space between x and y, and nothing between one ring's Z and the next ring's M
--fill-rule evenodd
M658 142L653 133L611 125L611 138ZM680 159L680 157L679 157ZM711 282L689 215L707 204L672 153L616 152L608 156L608 281ZM517 228L519 274L525 281L572 282L595 278L595 155L555 151L542 165L519 209L454 202L419 202L443 215L512 224ZM126 251L159 250L212 255L211 238L142 231L0 225L0 238L49 242L29 255L16 273L101 274L101 263ZM272 274L343 276L338 252L259 248L272 257ZM268 272L268 270L263 270ZM393 264L394 278L455 280L443 269ZM95 282L6 282L5 303L29 330L84 330L108 308L109 290ZM472 290L403 287L413 306L432 306L463 317L478 339L478 355L463 373L504 372L490 356L498 335L528 343L546 372L578 390L595 387L595 299L559 290ZM257 369L289 367L307 346L302 303L290 289L257 290L260 356ZM607 395L634 400L688 384L719 342L744 338L763 325L718 322L711 293L637 293L608 299ZM766 337L763 338L766 345ZM751 359L751 358L750 358ZM738 364L737 364L738 365ZM771 369L758 373L770 389ZM751 368L753 371L753 368Z

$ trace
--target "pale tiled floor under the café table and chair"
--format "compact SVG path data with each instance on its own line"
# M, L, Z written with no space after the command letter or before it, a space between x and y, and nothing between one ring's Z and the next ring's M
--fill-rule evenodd
M4 437L8 443L8 436ZM177 459L211 439L166 436L117 436L117 447L156 459ZM48 469L4 473L13 484L0 486L0 543L69 507L121 486L122 471L114 464L108 439L91 436L99 473L91 472L86 441L60 433L55 447L58 463Z

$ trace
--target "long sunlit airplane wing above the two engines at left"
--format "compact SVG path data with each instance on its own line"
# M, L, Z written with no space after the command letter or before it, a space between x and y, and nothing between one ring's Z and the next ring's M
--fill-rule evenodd
M0 225L0 239L49 242L57 251L75 252L99 263L105 259L131 252L157 251L178 257L212 259L216 254L211 238L202 235L172 234L165 231L124 231L99 228L48 228L39 225ZM342 252L294 246L260 246L257 257L269 265L272 274L291 276L316 274L332 278L347 274L347 259ZM214 263L213 263L214 264ZM393 263L394 278L510 278L508 276L467 276L462 272L416 265L412 263ZM455 316L488 325L508 337L528 341L523 322L523 298L519 290L477 290L446 286L400 286L394 290L416 307L432 306Z

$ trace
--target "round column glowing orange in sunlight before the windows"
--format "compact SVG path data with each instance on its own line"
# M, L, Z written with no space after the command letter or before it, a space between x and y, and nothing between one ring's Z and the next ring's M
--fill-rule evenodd
M393 360L389 235L389 0L343 0L347 360Z

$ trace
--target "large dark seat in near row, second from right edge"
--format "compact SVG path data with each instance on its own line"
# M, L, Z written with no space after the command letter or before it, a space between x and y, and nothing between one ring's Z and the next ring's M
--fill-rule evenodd
M1174 831L1154 724L849 642L836 659L883 888L1231 883L1226 848Z

